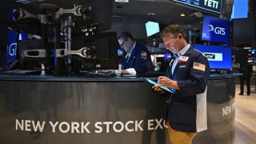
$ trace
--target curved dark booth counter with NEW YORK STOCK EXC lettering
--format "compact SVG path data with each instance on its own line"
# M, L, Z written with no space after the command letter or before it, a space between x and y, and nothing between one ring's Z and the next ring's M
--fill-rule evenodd
M233 143L234 84L211 76L208 130L193 143ZM164 144L167 99L142 78L0 75L1 143Z

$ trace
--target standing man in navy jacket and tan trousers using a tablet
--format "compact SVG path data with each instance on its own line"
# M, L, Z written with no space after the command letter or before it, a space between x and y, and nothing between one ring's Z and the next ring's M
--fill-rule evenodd
M167 126L170 143L190 144L197 132L207 129L206 87L210 77L207 58L190 47L178 25L162 31L166 49L175 55L166 76L158 77L159 86L173 90L168 106Z

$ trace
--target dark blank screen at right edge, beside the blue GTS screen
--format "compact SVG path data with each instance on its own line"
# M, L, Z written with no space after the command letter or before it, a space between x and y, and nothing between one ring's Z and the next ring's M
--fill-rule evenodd
M256 19L238 18L232 20L232 45L256 42Z

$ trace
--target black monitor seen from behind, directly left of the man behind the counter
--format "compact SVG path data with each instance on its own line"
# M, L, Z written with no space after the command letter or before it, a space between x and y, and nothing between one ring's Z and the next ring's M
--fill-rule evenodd
M73 39L72 47L79 50L82 47L94 47L95 58L84 58L85 62L93 63L90 69L118 69L118 40L116 32L98 33L89 37L80 36Z

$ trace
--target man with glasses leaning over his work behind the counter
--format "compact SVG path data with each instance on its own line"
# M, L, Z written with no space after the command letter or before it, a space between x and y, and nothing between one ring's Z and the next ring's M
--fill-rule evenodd
M152 68L150 52L147 48L134 41L133 36L123 32L118 37L119 45L126 54L123 55L122 74L145 74Z

